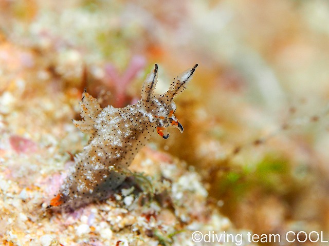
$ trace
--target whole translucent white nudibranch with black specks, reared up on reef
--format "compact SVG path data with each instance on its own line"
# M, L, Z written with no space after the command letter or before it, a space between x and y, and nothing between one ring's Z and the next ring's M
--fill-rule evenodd
M108 198L123 182L127 168L152 132L156 131L163 139L169 137L169 127L182 132L183 127L174 116L173 98L186 88L196 67L197 64L177 76L167 92L156 94L158 66L155 65L144 80L141 99L124 108L102 109L85 90L80 101L82 120L73 122L89 135L88 145L75 156L75 165L48 208L74 209Z

